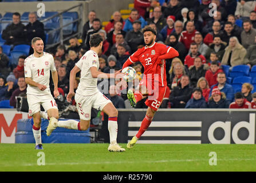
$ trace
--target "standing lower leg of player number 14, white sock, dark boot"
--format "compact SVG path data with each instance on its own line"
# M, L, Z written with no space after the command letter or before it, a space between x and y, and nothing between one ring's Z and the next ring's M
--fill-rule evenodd
M40 116L40 112L37 112L35 114L33 114L33 135L36 141L36 147L35 149L43 149L42 148L42 138L41 138L41 116Z

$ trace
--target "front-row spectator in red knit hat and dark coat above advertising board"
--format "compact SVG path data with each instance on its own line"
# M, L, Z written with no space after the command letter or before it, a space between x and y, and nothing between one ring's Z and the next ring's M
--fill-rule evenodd
M219 88L215 86L208 101L208 108L229 108L229 105L230 101L226 99L225 93L220 92Z

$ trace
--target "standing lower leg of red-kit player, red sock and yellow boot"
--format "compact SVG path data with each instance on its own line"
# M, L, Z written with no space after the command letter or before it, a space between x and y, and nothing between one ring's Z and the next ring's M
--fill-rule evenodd
M132 140L128 142L127 148L132 149L133 146L136 144L137 140L142 136L142 134L145 132L145 130L148 129L149 125L151 124L151 121L153 119L153 116L155 116L156 111L148 108L146 116L144 117L143 121L141 122L139 132L137 132L136 136L132 137Z

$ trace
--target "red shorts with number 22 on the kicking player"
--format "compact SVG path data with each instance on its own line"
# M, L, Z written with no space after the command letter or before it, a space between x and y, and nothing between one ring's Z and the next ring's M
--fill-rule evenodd
M152 96L148 96L148 99L145 101L145 105L147 105L149 108L157 111L157 109L162 104L164 94L166 93L166 87L167 86L159 86L158 82L157 85L152 86L152 82L145 81L145 79L142 79L139 83L139 86L146 86L148 89L148 93L152 94ZM154 87L156 86L156 87Z

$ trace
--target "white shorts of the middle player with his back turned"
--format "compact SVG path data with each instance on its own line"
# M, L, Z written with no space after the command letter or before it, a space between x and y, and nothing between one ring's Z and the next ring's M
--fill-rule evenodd
M90 120L90 112L92 108L97 110L103 110L105 105L111 102L103 93L97 92L92 96L80 96L77 94L74 96L76 101L76 107L81 120Z

